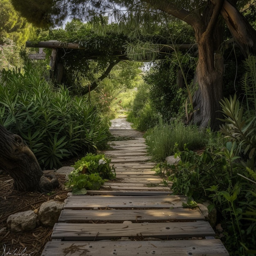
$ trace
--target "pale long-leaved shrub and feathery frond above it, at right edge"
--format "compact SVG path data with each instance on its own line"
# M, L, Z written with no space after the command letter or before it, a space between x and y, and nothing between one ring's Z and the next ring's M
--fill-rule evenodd
M238 155L243 157L245 166L255 170L256 165L256 58L249 56L244 62L247 72L243 79L245 106L240 106L236 94L220 103L225 123L221 132L238 144Z

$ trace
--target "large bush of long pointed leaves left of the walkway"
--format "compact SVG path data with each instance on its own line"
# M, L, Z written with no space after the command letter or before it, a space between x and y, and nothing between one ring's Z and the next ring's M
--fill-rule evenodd
M108 126L87 104L61 86L54 89L41 70L3 71L0 81L0 122L20 135L43 168L61 166L61 159L102 149Z

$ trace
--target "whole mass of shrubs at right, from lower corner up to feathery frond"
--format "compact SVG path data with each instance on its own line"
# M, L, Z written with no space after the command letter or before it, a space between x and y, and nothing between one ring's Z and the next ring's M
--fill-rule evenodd
M234 97L221 102L225 123L220 131L230 141L216 150L198 155L185 149L181 161L172 166L174 193L195 200L209 200L222 222L222 240L231 255L256 253L256 58L249 56L243 88L243 107ZM170 171L169 171L170 173ZM249 180L249 181L248 181Z

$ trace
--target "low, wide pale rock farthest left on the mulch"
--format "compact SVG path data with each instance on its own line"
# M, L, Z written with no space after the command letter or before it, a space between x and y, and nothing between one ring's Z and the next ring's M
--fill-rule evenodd
M33 230L36 228L37 219L37 214L31 210L14 213L7 218L7 229L12 232Z

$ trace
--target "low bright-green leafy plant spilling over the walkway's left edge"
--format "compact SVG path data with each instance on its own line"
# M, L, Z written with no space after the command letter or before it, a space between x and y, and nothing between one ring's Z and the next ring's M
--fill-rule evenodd
M110 166L110 162L103 154L85 155L72 166L75 169L68 175L65 186L72 188L74 195L85 195L88 189L100 189L104 182L116 177L115 168Z

